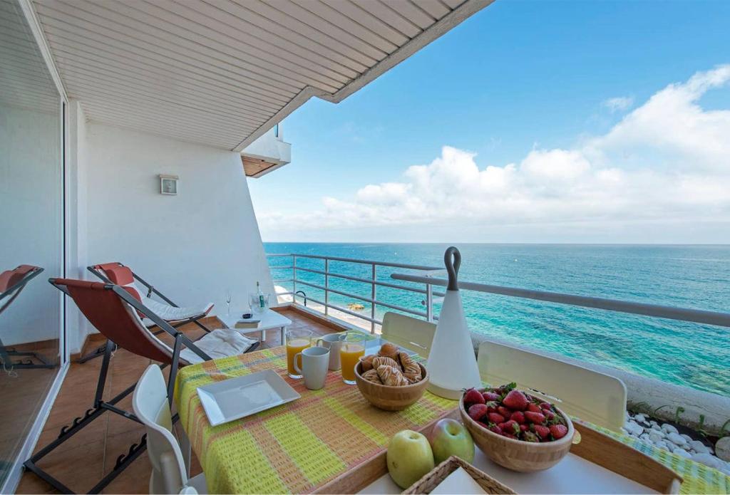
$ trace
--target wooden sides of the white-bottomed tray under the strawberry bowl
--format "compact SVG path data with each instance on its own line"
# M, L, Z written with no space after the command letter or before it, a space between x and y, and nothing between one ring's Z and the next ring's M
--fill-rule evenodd
M431 421L430 424L427 424L419 431L424 434L429 432L429 429L431 429L436 421L444 417L458 419L458 409L454 409L450 413L434 419L434 421ZM570 449L571 454L579 456L593 464L597 464L600 467L604 467L623 478L632 480L658 493L679 493L682 478L672 471L672 469L629 447L629 445L625 445L600 432L596 432L596 430L580 423L580 421L574 421L573 426L575 426L577 433L574 442L580 440L580 443L572 445ZM561 462L564 462L566 459ZM557 469L558 466L552 469ZM383 449L383 451L371 459L364 461L357 467L342 473L342 475L334 478L334 480L321 486L314 493L355 494L387 474L388 466L385 461L385 449ZM500 480L498 477L493 478L496 478L507 486L512 486L510 483L505 483L504 480Z

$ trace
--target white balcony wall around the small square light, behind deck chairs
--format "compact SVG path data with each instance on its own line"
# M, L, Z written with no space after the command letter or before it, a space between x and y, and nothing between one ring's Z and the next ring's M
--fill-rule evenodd
M80 268L122 262L178 305L210 301L213 313L226 311L228 288L239 310L256 281L274 292L237 152L96 122L85 134ZM180 176L177 196L159 193L158 174ZM72 352L84 337L69 337Z

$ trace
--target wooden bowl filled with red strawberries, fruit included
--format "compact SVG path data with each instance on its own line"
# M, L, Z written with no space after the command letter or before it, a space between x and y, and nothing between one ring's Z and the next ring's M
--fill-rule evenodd
M541 471L558 464L575 433L565 413L515 389L515 383L466 390L459 411L474 443L489 459L513 471Z

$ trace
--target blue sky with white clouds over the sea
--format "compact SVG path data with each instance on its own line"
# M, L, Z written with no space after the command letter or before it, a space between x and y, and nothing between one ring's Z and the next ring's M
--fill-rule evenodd
M285 140L292 143L292 163L249 182L264 241L730 242L728 234L718 233L730 225L730 201L722 192L709 205L695 201L689 208L693 200L688 199L676 208L658 208L666 210L664 216L654 212L639 219L628 212L657 204L638 204L640 191L624 198L623 209L612 211L598 211L573 195L601 170L688 176L688 170L665 160L662 155L669 150L656 141L608 139L606 149L605 140L594 146L591 139L611 136L631 112L667 85L686 84L695 74L730 63L729 25L730 1L721 0L497 0L340 104L314 98L283 122ZM702 130L708 136L726 129L730 89L724 77L691 102L701 117L710 116L701 119L712 121ZM610 107L611 98L621 99ZM653 115L657 120L687 119L681 112ZM643 135L628 129L623 136L632 132ZM683 130L653 128L646 135L671 132ZM585 151L587 141L590 149L600 148L600 160ZM624 145L629 152L621 151ZM443 147L469 154L449 158ZM532 171L550 166L564 170L569 165L550 150L575 149L588 156L589 170L581 168L581 174L590 177L579 179L571 172L571 184L550 192L553 200L561 200L557 207L554 201L546 206L544 191L535 192L540 186L533 174L511 182L499 204L472 205L475 211L465 215L468 220L453 221L441 214L447 209L439 209L443 203L431 204L423 197L448 196L447 190L434 192L434 184L418 187L412 174L404 178L412 165L434 165L439 158L453 170L471 160L468 166L479 171L510 163L526 171L526 157L534 150L555 160L532 165ZM730 156L724 152L720 157L727 158L725 168L710 163L705 168L711 173L694 171L699 175L694 179L712 177L716 183L729 178ZM611 157L608 163L605 156ZM554 176L542 176L550 185ZM626 179L624 188L653 187L647 184L664 184L664 179L677 182L677 176L642 177ZM431 180L448 182L438 174L431 174ZM383 198L383 184L388 183L404 185L396 188L397 197L388 193ZM379 188L377 198L362 193L368 186ZM458 186L453 192L464 194ZM665 192L653 191L676 195ZM486 185L469 193L492 196L493 189ZM423 215L388 214L404 210L404 202L411 200L420 202L414 208L422 208ZM497 213L480 216L480 208ZM529 213L535 208L546 216ZM566 216L564 209L584 214ZM338 211L345 211L344 218L337 218ZM381 222L382 217L388 219Z

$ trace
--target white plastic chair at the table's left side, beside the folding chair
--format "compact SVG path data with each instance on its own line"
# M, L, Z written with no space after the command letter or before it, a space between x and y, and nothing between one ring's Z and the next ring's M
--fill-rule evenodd
M167 386L158 365L150 365L142 374L132 397L134 413L147 429L147 453L152 464L150 494L206 493L205 475L188 478L188 469L180 444L172 432L172 414Z

